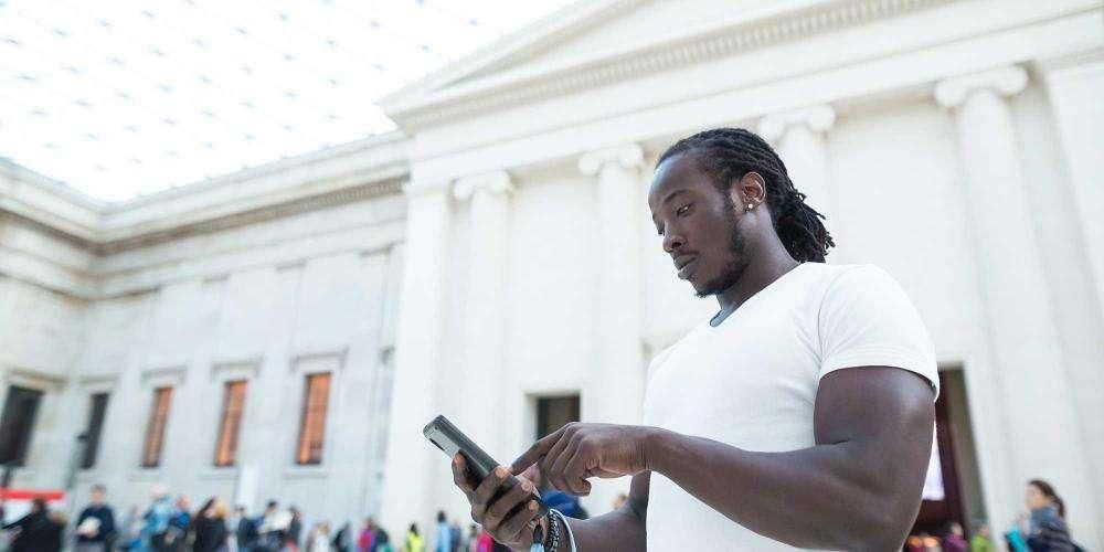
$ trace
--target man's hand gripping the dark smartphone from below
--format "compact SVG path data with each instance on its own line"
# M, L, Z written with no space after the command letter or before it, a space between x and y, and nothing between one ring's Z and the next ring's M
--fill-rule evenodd
M510 486L510 473L505 466L495 468L478 486L468 477L464 455L453 457L453 482L468 497L471 519L498 542L514 550L529 550L537 522L537 486L519 477L521 485Z

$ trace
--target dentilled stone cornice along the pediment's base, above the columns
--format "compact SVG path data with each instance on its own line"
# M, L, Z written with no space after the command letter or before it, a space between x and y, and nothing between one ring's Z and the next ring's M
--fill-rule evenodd
M752 21L720 24L691 36L602 53L564 63L540 74L519 74L486 86L429 93L407 103L393 102L388 115L407 130L466 116L535 103L637 76L736 55L772 44L808 38L915 12L954 0L835 0Z

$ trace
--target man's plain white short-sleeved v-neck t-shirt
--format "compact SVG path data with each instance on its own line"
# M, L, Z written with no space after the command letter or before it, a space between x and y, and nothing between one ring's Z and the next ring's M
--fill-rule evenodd
M825 374L889 365L938 393L931 338L901 286L871 265L806 263L752 296L716 328L708 321L648 369L645 425L755 452L814 446L813 406ZM651 474L648 550L794 550L725 518Z

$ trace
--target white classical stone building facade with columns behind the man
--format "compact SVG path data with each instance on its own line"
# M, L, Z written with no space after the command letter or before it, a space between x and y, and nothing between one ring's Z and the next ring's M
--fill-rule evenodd
M922 518L1002 529L1042 477L1100 548L1102 17L581 2L385 98L395 135L118 205L8 168L2 383L41 392L15 481L63 485L107 391L76 479L120 500L163 480L392 531L464 519L422 426L445 413L505 461L552 420L638 421L650 358L711 311L650 227L650 169L679 137L743 126L828 214L829 262L884 267L928 326L945 391ZM214 467L238 381L236 457Z

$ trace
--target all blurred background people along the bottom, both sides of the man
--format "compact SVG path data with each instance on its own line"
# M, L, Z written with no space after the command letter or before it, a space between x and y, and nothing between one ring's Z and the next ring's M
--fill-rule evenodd
M67 517L47 508L44 499L35 499L31 511L11 523L10 552L56 552L72 543L75 552L501 552L478 526L467 531L457 520L437 512L433 548L416 523L406 528L399 542L374 519L367 518L359 528L344 522L335 530L327 521L315 523L304 533L302 512L295 506L282 508L269 500L258 516L250 516L238 506L231 513L219 498L208 499L200 508L190 509L187 496L172 497L163 487L155 487L150 505L139 513L132 507L116 520L106 501L106 489L94 486L89 503L81 510L70 528ZM575 497L551 489L542 492L545 502L572 517L585 518ZM624 496L618 497L623 501ZM1065 505L1054 488L1041 479L1028 482L1027 510L1013 527L1004 533L1011 552L1078 552L1065 522ZM617 508L617 502L614 503ZM967 540L957 522L942 534L920 533L905 543L907 552L995 552L990 530L979 523Z

